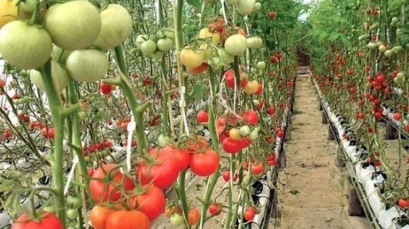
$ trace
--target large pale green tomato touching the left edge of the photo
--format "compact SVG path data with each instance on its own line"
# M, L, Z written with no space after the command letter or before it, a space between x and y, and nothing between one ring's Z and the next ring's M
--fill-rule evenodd
M12 21L0 30L0 54L10 64L36 69L50 59L53 43L46 30Z

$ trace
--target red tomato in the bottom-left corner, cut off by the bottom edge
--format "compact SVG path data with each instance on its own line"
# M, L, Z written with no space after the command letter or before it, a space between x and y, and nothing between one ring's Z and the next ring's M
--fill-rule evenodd
M54 213L42 212L39 221L30 219L26 213L22 214L11 225L11 229L62 229L60 219Z

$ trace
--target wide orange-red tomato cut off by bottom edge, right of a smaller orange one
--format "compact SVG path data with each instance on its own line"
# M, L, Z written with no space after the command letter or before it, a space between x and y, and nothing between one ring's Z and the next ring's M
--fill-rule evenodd
M106 219L105 229L149 229L149 218L141 211L115 211Z

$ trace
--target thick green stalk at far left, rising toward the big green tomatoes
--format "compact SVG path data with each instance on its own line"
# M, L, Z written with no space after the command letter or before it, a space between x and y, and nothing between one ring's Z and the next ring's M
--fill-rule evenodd
M64 198L64 165L63 165L63 148L62 140L64 139L64 118L62 116L62 105L59 95L55 90L51 78L51 62L41 68L41 76L46 88L46 95L49 101L50 111L54 122L54 163L53 179L55 189L55 207L57 215L65 228L65 198Z

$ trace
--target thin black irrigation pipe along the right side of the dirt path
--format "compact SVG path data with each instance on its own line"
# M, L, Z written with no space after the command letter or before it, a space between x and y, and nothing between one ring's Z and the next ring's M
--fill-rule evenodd
M358 197L359 197L359 202L361 204L361 207L363 209L363 211L365 212L366 217L370 220L370 222L372 223L372 225L374 226L374 228L376 229L381 229L382 227L379 225L378 223L378 219L376 218L370 203L368 201L368 196L365 193L365 189L362 187L362 185L360 184L360 182L356 179L356 174L355 174L355 170L353 167L353 163L351 161L351 159L349 159L346 150L344 149L344 146L341 142L341 138L338 135L338 132L336 131L335 125L332 123L332 121L329 119L329 115L327 113L327 110L325 109L325 104L323 101L323 98L320 96L317 84L315 83L315 81L311 78L311 82L314 84L314 88L315 88L315 92L317 94L317 98L319 100L320 106L322 107L322 112L325 113L326 119L328 121L329 124L329 128L332 132L332 136L334 136L334 139L336 140L338 147L340 150L342 150L342 159L343 162L345 162L347 168L348 168L348 172L349 172L349 180L352 183Z

